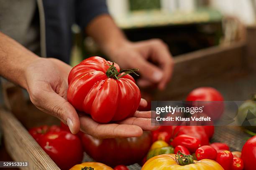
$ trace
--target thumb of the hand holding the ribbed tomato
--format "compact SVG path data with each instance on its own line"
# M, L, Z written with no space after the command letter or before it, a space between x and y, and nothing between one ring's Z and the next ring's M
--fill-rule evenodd
M77 115L77 111L63 97L52 90L40 92L36 96L36 100L37 102L34 103L31 99L31 101L40 110L59 118L62 122L69 126L69 130L73 134L79 132L80 120Z

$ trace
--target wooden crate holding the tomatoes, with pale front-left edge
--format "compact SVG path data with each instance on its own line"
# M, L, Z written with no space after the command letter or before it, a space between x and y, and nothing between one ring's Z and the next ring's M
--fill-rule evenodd
M183 99L194 87L237 80L250 72L244 40L180 55L174 60L172 81L164 92L151 92L155 100ZM59 170L27 131L36 125L59 123L59 120L42 113L30 101L22 100L23 92L19 87L8 87L5 98L9 101L8 109L0 109L0 125L6 149L13 160L29 161L30 166L22 169Z

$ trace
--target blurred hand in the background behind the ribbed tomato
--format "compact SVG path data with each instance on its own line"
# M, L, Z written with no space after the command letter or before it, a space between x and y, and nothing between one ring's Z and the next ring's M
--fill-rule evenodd
M157 84L164 89L172 76L173 59L167 45L158 39L125 43L113 50L110 57L122 69L138 68L141 79L140 86Z

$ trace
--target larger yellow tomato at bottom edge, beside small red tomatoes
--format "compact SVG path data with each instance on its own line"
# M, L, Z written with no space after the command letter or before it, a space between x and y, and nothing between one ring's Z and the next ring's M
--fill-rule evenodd
M174 154L163 154L149 159L141 170L224 170L220 164L214 160L203 159L194 160L188 165L179 165Z

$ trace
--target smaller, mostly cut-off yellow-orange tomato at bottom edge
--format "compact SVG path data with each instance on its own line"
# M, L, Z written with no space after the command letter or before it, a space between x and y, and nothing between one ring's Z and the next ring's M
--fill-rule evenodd
M90 170L90 167L94 168L94 170L113 170L112 168L110 168L109 166L103 163L94 163L94 162L77 164L77 165L74 165L70 170L83 170L83 169L86 170L85 167L87 167L88 170Z

